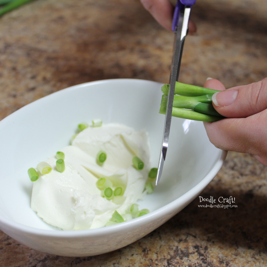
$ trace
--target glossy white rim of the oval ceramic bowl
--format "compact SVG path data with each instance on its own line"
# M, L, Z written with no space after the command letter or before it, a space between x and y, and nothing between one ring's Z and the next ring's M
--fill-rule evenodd
M85 82L85 83L73 85L73 86L64 88L62 90L56 91L54 93L51 93L47 96L44 96L42 98L39 98L39 99L27 104L26 106L21 107L20 109L28 108L28 106L38 104L39 101L43 101L43 98L51 97L51 95L54 95L54 94L61 94L62 92L77 90L79 88L83 88L83 87L86 87L88 85L101 84L101 83L105 83L105 82L116 82L116 81L123 81L123 80L126 80L126 81L133 81L134 80L135 82L141 82L142 81L142 82L149 82L149 83L156 83L156 84L162 84L163 85L163 83L155 82L155 81L142 80L142 79L125 79L125 78L124 79L107 79L107 80ZM3 121L6 121L6 119L8 120L8 118L10 118L10 116L12 117L15 113L19 112L20 109L18 109L17 111L15 111L12 114L5 117L3 120L1 120L0 124L2 124ZM55 231L55 230L39 229L39 228L23 225L19 222L14 222L8 218L2 217L1 215L0 215L0 225L5 225L6 228L9 228L9 229L13 228L13 229L20 231L20 232L23 232L25 234L33 234L33 235L46 236L46 237L56 237L56 238L80 238L80 237L105 236L110 232L120 232L120 231L127 230L129 228L129 226L130 226L130 228L131 228L131 226L134 226L136 228L138 226L142 226L143 223L149 223L149 222L151 222L151 220L156 220L156 219L158 219L158 217L163 217L163 216L167 217L168 214L173 214L175 212L175 210L177 209L177 207L179 206L179 204L185 204L185 206L187 206L196 197L197 194L201 193L201 191L204 190L204 188L209 184L209 182L212 181L212 179L215 177L215 175L218 173L218 171L222 167L222 164L223 164L223 162L226 158L226 155L227 155L227 151L221 150L220 153L221 153L221 154L219 154L220 159L214 164L214 166L209 170L209 172L206 174L206 176L197 185L195 185L193 188L191 188L189 191L187 191L185 194L183 194L179 198L175 199L174 201L166 204L165 206L163 206L159 209L156 209L153 212L150 212L146 215L143 215L142 217L138 217L138 218L135 218L135 219L132 219L132 220L129 220L126 222L122 222L122 223L116 224L116 225L110 225L110 226L105 226L105 227L95 228L95 229L79 230L79 231L75 231L75 230ZM199 187L201 188L201 190L199 190ZM177 213L174 213L174 215L175 214L177 214ZM169 220L169 218L167 220ZM166 222L166 220L163 220L162 224L165 222ZM157 227L159 227L159 226L160 225L158 225Z

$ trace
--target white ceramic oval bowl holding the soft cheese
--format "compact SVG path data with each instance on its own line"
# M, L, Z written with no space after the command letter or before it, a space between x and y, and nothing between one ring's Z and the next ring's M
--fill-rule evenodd
M118 225L61 231L30 208L32 182L27 170L69 144L77 124L101 118L145 128L152 166L158 165L164 115L158 113L162 84L115 79L88 82L41 98L0 122L0 228L22 244L62 256L90 256L124 247L169 220L209 184L226 152L206 136L202 122L172 119L160 184L140 201L150 213Z

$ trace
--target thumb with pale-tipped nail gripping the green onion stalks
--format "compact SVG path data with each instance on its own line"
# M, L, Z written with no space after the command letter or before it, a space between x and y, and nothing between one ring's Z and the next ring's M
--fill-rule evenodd
M210 80L212 83L214 80ZM212 84L212 88L216 87ZM215 88L214 88L215 89ZM212 96L214 108L228 118L246 118L267 108L267 78L217 92Z

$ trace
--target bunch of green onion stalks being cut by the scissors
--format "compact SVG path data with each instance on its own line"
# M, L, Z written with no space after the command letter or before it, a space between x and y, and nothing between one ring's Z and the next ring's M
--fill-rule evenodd
M159 113L166 114L170 85L163 85L161 90L163 96ZM176 82L172 116L206 122L223 119L212 106L212 95L216 92L220 91Z

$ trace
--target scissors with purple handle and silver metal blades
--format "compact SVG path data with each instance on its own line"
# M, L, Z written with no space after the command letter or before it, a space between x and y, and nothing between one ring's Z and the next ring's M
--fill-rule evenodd
M196 0L178 0L174 9L174 16L172 21L172 30L174 31L174 51L172 56L171 74L169 81L170 91L166 108L164 132L160 151L160 159L158 163L156 185L158 185L158 182L160 180L163 170L163 164L166 158L171 128L171 113L174 98L175 82L178 81L179 77L183 46L185 42L185 36L187 35L191 7L195 3Z

